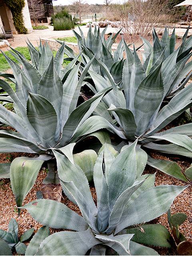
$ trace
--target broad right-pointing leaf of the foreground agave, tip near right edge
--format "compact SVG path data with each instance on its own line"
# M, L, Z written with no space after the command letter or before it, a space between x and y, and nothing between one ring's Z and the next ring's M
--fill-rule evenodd
M125 208L120 222L116 226L115 234L128 226L148 222L164 214L168 211L174 198L187 187L162 185L144 191ZM127 212L129 212L128 216ZM140 214L136 215L135 212L140 212Z

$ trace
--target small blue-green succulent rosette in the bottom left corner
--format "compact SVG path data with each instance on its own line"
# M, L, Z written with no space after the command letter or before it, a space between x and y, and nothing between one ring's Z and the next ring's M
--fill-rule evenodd
M30 239L34 232L34 228L30 228L27 231L25 231L20 238L18 237L18 223L14 218L11 218L8 226L8 231L0 229L0 251L2 253L2 250L7 250L10 254L4 254L4 255L12 255L11 250L16 250L18 254L25 254L26 251L26 244L23 242ZM4 240L6 244L1 242L1 240ZM3 248L4 247L4 248ZM11 250L10 250L11 249ZM3 255L3 254L1 254Z

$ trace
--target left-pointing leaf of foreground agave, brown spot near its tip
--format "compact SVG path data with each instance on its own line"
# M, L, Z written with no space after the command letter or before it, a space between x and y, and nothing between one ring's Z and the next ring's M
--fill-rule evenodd
M50 228L66 228L76 231L88 228L88 224L80 215L54 200L39 199L20 208L27 209L34 219Z

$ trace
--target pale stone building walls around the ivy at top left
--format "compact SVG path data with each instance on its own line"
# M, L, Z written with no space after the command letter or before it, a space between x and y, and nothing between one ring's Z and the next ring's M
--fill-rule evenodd
M23 19L24 26L27 28L28 33L32 32L32 24L29 14L29 8L27 0L25 0L25 7L23 8ZM0 0L0 28L3 27L4 30L11 30L13 34L17 34L16 28L13 24L12 13L10 9L6 6L3 0ZM0 29L1 34L1 29Z

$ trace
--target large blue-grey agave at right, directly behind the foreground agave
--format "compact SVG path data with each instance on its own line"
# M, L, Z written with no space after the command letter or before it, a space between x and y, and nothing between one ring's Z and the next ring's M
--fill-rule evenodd
M162 52L150 70L148 68L145 70L136 50L134 49L133 55L126 44L124 46L126 60L123 68L122 88L115 84L110 72L100 60L96 59L105 72L106 78L92 70L88 71L98 91L108 86L112 86L113 90L103 98L105 104L102 105L101 110L98 108L95 110L97 115L90 117L89 121L84 122L81 128L93 126L95 130L106 128L120 136L126 143L138 138L138 144L142 147L191 158L191 123L161 131L192 106L191 84L180 90L169 102L163 102L168 90L170 90L170 84L173 83L172 74L168 74L169 66L171 66L173 56L176 57L178 51L175 51L164 61L164 52ZM157 50L154 48L154 55L156 54ZM186 59L190 56L191 54L188 54ZM170 64L168 65L168 63ZM191 62L189 64L192 65ZM176 76L182 77L180 68L176 74ZM106 111L112 116L109 114L107 116ZM164 140L170 144L162 144ZM149 157L148 164L187 181L176 163Z

